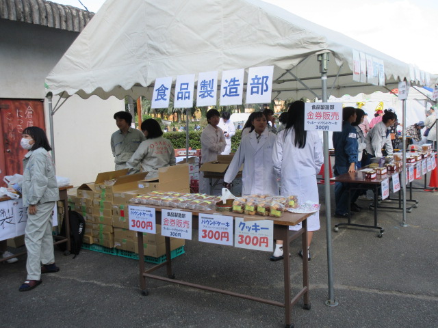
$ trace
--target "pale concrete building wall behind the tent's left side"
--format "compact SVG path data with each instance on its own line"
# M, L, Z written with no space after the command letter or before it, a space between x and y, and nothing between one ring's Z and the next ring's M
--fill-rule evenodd
M79 33L5 19L0 19L0 31L0 98L44 99L45 78ZM53 97L53 106L56 102ZM53 115L57 175L78 186L94 181L99 172L114 170L113 115L124 109L124 101L115 97L68 98ZM47 99L44 117L50 140Z

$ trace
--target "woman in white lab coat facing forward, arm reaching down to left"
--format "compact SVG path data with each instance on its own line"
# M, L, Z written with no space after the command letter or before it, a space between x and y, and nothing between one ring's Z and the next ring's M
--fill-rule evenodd
M229 187L240 167L242 172L242 195L263 193L279 195L279 184L272 165L272 146L275 134L271 133L266 116L258 111L253 115L253 132L242 138L239 149L224 176L224 184Z

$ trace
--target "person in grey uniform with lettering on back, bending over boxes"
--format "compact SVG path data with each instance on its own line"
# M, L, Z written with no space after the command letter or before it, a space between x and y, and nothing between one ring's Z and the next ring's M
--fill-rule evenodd
M146 140L140 143L131 159L127 161L128 173L140 172L138 169L140 164L143 172L149 172L147 178L158 178L160 167L172 166L177 163L175 150L172 143L163 137L161 126L153 118L142 123L142 131Z

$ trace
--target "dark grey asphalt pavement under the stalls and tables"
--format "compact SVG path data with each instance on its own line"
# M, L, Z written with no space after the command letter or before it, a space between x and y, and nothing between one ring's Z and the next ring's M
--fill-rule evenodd
M422 182L414 186L422 187ZM400 210L379 210L382 238L377 230L363 228L332 232L339 305L329 307L324 187L319 188L322 228L310 250L311 310L302 308L302 300L294 306L295 327L438 327L438 192L414 191L419 204L407 213L407 227L401 226ZM334 186L331 190L333 209ZM363 210L353 220L372 224L369 202L358 204ZM344 221L333 217L331 231ZM178 279L283 300L283 264L270 262L270 253L196 239L194 233L185 254L172 261ZM299 249L299 242L292 242L293 291L302 284ZM149 295L142 296L137 260L86 249L75 259L55 249L60 272L43 275L34 290L18 292L26 278L26 256L18 259L0 265L0 327L285 326L283 308L177 284L148 280ZM152 265L146 262L146 268ZM164 268L159 272L166 275Z

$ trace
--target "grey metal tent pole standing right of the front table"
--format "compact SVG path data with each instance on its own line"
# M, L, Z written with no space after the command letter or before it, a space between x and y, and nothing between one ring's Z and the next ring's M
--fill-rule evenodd
M329 64L329 53L318 55L321 71L322 102L327 102L327 66ZM333 288L333 260L331 248L331 197L330 197L330 161L329 161L329 131L324 131L324 191L326 200L326 223L327 223L327 275L329 278L329 299L326 305L335 307L339 303L335 300L335 290Z

